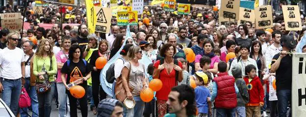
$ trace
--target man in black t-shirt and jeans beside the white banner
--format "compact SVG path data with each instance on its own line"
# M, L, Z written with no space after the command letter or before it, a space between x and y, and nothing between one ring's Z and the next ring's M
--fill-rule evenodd
M288 55L296 46L293 37L285 35L281 37L282 51L272 59L271 73L276 72L276 94L278 97L279 117L287 117L288 101L291 103L292 86L292 56ZM291 111L289 114L291 117Z

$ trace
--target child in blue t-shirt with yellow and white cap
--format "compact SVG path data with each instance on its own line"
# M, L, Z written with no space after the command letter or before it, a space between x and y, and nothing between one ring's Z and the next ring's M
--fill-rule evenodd
M208 77L204 72L196 72L196 102L198 108L198 117L208 117L208 114L211 116L211 102L207 101L207 98L210 98L210 92L205 87L208 82Z

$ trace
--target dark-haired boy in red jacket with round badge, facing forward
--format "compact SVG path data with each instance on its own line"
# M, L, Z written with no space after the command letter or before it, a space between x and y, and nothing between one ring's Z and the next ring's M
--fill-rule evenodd
M259 77L256 76L256 67L249 64L245 67L245 73L248 75L243 78L247 84L250 97L246 104L246 117L260 117L260 107L263 106L264 92Z

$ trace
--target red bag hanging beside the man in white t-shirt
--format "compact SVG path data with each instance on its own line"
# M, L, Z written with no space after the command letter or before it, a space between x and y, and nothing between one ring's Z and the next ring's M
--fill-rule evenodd
M29 106L31 106L31 99L26 92L26 88L22 87L20 97L19 97L19 107L26 108Z

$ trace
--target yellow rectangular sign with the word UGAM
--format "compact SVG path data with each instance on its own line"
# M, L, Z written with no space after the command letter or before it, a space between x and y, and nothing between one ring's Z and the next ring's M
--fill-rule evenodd
M137 11L122 11L117 13L118 25L138 25Z

